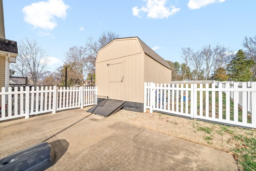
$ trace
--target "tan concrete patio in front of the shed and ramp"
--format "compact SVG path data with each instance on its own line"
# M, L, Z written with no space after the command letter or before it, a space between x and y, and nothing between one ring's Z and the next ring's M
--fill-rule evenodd
M40 142L56 152L49 171L229 170L232 155L82 109L0 122L0 158Z

